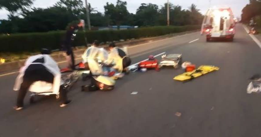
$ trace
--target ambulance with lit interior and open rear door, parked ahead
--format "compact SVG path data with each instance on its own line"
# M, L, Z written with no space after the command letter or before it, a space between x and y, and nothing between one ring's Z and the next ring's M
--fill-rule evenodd
M233 41L235 20L231 8L210 8L204 17L201 34L206 34L209 42L214 38L225 38Z

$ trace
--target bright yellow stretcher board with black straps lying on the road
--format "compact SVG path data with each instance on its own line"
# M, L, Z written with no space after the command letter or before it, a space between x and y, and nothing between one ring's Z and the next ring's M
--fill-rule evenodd
M215 70L219 70L219 68L216 66L211 66L211 65L201 65L197 69L195 69L191 72L185 72L180 75L177 75L173 79L179 80L179 81L190 80L190 79L194 79L194 78L200 77L202 75L205 75L209 72L213 72Z

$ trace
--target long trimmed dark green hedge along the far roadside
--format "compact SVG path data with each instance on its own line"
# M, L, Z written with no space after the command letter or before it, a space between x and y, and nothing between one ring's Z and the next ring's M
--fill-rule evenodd
M120 39L153 37L171 33L185 32L200 29L199 25L187 26L155 26L148 28L126 30L87 31L85 35L88 43L94 40L99 42L117 41ZM41 48L59 49L65 31L45 33L21 33L0 36L0 52L33 52ZM84 32L79 31L73 43L75 46L85 45Z

